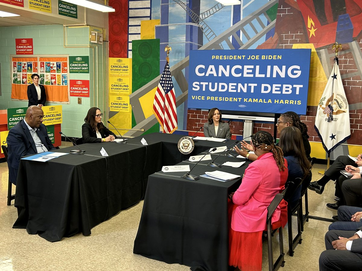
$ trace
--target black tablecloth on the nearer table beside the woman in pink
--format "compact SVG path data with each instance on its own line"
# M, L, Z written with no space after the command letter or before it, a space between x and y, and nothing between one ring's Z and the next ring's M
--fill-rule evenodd
M212 155L213 159L215 157ZM227 160L245 161L219 156L216 162ZM206 165L208 162L201 161L191 173L202 175L206 171L220 170L243 176L249 164L240 168L213 168ZM157 172L149 177L134 253L167 263L226 271L227 195L237 189L241 178L220 182L201 177L190 181L182 178L184 173Z

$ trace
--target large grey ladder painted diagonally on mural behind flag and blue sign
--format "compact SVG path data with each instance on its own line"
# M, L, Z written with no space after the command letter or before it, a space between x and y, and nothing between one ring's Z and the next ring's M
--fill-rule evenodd
M174 0L173 0L174 1ZM271 21L270 17L267 14L267 11L273 7L275 4L278 4L278 0L271 0L267 4L265 4L260 9L256 10L249 16L243 18L240 22L237 22L235 25L231 26L229 29L224 31L219 36L216 36L214 39L210 40L207 44L199 48L199 50L220 50L220 43L226 42L228 45L228 49L235 49L235 47L230 42L230 36L234 36L235 40L239 44L240 48L238 49L247 49L252 44L257 42L260 38L262 38L266 33L268 33L269 30L273 29L275 26L275 20ZM268 21L268 24L264 24L261 20L261 18L266 18ZM260 31L257 31L256 27L253 24L253 21L256 20L258 24L261 27ZM250 26L254 33L247 33L246 27ZM237 32L242 31L242 33L245 36L245 39L247 39L247 42L243 43L241 42L240 38L237 36ZM189 56L185 57L185 59L181 60L177 64L173 65L170 70L171 74L176 80L178 86L181 89L181 94L176 97L176 106L180 106L182 103L184 103L187 100L188 96L188 82L184 76L184 73L182 72L183 69L189 66ZM134 113L136 125L133 129L144 129L147 131L150 129L153 125L157 123L157 119L154 115L151 115L149 117L145 117L143 114L142 106L140 104L140 98L147 93L149 93L152 89L157 87L159 81L160 81L161 75L157 76L155 79L153 79L151 82L147 83L143 87L140 87L138 90L136 90L134 93L130 94L130 104L132 105L132 112ZM143 132L142 131L129 131L125 133L125 136L140 136Z

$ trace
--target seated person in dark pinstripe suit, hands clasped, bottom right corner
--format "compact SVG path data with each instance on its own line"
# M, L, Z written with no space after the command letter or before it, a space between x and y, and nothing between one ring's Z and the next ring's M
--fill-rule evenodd
M320 271L362 270L362 227L356 231L332 230L325 234L319 256Z

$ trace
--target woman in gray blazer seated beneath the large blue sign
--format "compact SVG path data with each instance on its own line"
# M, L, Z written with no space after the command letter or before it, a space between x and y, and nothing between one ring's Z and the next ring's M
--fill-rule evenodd
M221 111L218 108L210 109L208 122L204 124L204 136L230 139L230 126L221 119Z

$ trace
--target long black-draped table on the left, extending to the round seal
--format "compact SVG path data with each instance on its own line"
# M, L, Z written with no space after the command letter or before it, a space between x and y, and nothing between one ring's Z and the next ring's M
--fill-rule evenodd
M147 146L140 143L142 137ZM144 197L150 174L188 157L177 150L181 137L148 134L127 144L79 145L85 155L68 154L44 163L21 160L14 204L18 218L13 228L26 228L29 234L38 233L52 242L79 232L90 235L92 227ZM200 141L189 156L223 145ZM109 156L101 156L102 147Z

